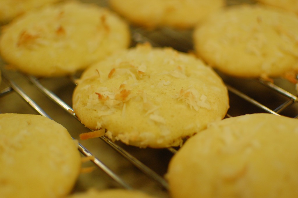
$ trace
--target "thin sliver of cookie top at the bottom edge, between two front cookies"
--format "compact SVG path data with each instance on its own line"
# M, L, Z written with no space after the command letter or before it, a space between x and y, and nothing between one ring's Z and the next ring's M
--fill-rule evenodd
M70 195L67 198L154 198L148 194L136 190L125 190L125 189L111 189L105 191L89 190L84 193L77 193Z

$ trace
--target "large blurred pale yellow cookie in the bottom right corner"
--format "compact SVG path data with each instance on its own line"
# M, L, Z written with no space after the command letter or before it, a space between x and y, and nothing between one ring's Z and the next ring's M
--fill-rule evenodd
M213 123L171 159L171 197L297 197L297 141L293 118L252 114Z

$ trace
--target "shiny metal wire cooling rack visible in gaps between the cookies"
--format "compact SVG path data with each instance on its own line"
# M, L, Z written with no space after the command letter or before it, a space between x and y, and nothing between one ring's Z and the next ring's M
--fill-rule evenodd
M92 1L90 1L92 2ZM94 1L93 1L94 2ZM229 1L237 4L240 1ZM106 5L104 1L99 1ZM173 47L182 52L193 49L191 30L169 28L145 30L131 27L132 44L150 42L155 47ZM38 114L62 124L79 140L79 134L89 132L72 111L72 92L79 74L67 77L35 78L6 69L0 60L0 112ZM295 85L283 78L265 79L233 78L218 72L229 90L230 109L226 117L251 113L272 113L292 117L298 115ZM168 184L164 179L167 165L179 148L139 149L106 137L79 140L82 156L95 156L83 163L83 168L95 167L81 173L74 192L89 188L138 189L158 197L168 197ZM24 162L25 163L25 162Z

